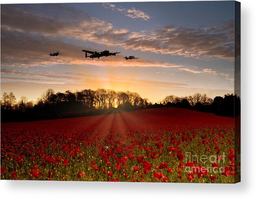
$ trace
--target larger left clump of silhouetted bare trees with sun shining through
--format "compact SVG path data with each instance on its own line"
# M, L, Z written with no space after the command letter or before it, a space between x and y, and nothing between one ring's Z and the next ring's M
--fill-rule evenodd
M112 110L133 111L147 108L151 103L136 92L112 89L83 89L64 93L51 88L42 93L36 102L22 96L4 92L1 98L1 122L58 119L113 113Z

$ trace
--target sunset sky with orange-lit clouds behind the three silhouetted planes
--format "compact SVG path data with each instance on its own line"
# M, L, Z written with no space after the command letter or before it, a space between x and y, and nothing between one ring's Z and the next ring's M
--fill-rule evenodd
M121 53L92 60L83 49ZM151 102L234 93L234 2L1 4L0 77L1 94L17 100L48 88L129 90Z

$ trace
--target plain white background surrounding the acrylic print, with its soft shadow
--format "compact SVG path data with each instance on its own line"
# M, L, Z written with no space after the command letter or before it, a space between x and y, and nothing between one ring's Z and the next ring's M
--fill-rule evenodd
M113 0L120 2L120 0ZM129 0L125 0L126 2ZM0 0L9 3L60 3L68 0ZM111 2L76 0L75 2ZM256 4L241 2L241 183L107 183L0 181L1 198L256 198Z

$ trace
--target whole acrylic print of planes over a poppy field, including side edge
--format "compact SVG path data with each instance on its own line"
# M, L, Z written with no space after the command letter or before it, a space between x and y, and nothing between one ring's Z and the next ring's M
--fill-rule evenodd
M1 4L1 180L240 181L240 3Z

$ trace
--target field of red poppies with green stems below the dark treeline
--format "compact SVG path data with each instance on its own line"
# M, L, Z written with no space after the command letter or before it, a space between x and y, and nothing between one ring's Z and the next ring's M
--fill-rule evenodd
M180 108L1 123L1 179L235 183L234 118Z

